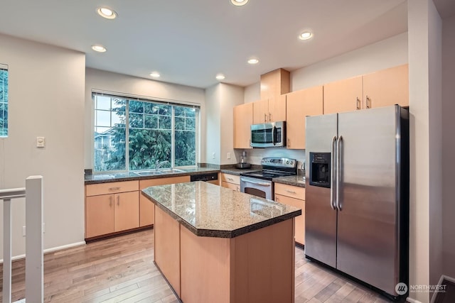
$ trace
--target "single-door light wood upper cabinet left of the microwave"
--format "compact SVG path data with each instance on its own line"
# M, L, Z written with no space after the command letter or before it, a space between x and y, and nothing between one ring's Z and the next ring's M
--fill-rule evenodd
M251 124L253 104L245 103L234 107L234 148L251 148Z

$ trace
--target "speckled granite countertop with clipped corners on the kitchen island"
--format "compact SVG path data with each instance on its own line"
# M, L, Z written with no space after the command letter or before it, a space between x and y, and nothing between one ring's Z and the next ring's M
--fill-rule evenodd
M145 197L196 236L234 238L301 215L301 209L208 182L147 187Z

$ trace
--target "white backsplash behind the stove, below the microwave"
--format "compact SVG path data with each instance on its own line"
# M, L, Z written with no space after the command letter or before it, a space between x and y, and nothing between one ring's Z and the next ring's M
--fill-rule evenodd
M235 158L240 162L242 151L235 150ZM252 148L245 150L247 158L245 162L253 165L260 165L262 158L265 157L284 157L297 160L297 168L301 168L302 163L305 161L305 150L288 150L287 148Z

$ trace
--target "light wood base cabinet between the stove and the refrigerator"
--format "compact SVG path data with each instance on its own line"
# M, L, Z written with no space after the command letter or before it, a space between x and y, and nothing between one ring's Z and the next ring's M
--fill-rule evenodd
M295 219L295 240L297 243L305 244L305 188L288 184L275 183L275 201L299 207L301 216Z

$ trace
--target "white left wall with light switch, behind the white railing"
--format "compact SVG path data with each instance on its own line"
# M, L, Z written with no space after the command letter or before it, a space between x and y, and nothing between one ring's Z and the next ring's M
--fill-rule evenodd
M0 45L0 63L9 65L9 137L0 139L0 188L24 187L29 175L43 175L44 248L80 244L85 55L7 35L0 35ZM36 148L37 136L45 137L45 148ZM12 253L18 256L25 253L24 199L14 200L12 209Z

